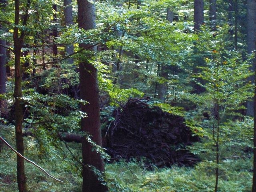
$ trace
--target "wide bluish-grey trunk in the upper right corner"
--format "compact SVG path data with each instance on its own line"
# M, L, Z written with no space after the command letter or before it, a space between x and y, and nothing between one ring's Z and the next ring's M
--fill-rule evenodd
M256 49L256 1L247 0L247 52L251 54ZM254 58L250 70L255 71L256 59ZM250 76L248 81L254 82L255 76ZM246 115L254 116L254 101L246 102Z

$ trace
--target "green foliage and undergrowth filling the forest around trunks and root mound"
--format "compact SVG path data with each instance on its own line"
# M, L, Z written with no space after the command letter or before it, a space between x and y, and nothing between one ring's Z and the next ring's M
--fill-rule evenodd
M16 2L0 1L0 40L9 43L2 46L9 50L6 68L10 70L6 90L0 94L4 103L0 121L5 124L0 126L0 136L15 146L17 54L13 38L18 30L19 36L24 35L19 98L26 135L24 156L64 181L51 180L26 163L28 191L82 190L82 166L88 165L82 163L81 145L65 142L66 134L84 136L105 159L105 174L88 168L112 192L251 191L253 120L246 116L245 103L253 98L250 76L255 56L246 50L245 1L218 0L215 21L209 19L211 4L204 2L205 22L200 31L194 31L196 8L188 0L96 0L92 3L97 27L90 30L78 27L76 1L72 2L74 22L69 25L64 22L66 6L60 0L20 0L20 25L16 25ZM74 53L66 50L71 44ZM81 44L97 46L97 54ZM102 129L110 127L112 112L129 98L148 97L149 107L158 106L186 119L200 138L187 150L200 162L194 167L153 166L151 170L144 167L143 158L110 163L90 134L81 132L81 118L88 118L81 106L88 102L80 99L79 84L90 83L79 78L81 62L98 70ZM0 188L14 192L16 155L3 146L0 140Z

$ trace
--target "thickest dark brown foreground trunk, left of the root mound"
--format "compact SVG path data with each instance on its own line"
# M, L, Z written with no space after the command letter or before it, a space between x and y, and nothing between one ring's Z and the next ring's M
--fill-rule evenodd
M94 4L88 0L77 0L78 4L78 26L85 30L96 28L96 16ZM88 47L88 44L80 44L80 47ZM96 47L91 48L92 52L96 51ZM82 61L79 64L80 71L80 98L86 100L88 104L82 105L81 109L86 112L87 118L82 118L81 130L88 132L92 136L92 140L99 146L102 146L100 131L100 108L99 108L99 92L97 83L97 70L88 61ZM82 140L82 156L85 165L94 166L99 171L104 172L103 160L100 154L86 140ZM83 167L83 187L82 192L105 192L107 187L99 180L98 176L88 167Z

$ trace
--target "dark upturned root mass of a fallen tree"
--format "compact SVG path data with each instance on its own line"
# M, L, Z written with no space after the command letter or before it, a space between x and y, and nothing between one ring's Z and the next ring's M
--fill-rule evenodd
M184 124L184 118L132 98L114 111L107 130L108 152L113 160L145 157L156 166L191 166L198 159L185 146L198 141Z

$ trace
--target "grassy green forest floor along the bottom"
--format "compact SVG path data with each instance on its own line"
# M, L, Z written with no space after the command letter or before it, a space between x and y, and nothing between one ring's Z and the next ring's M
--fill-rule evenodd
M14 128L0 126L1 136L14 146ZM63 142L56 148L44 148L40 153L33 138L25 139L25 156L64 181L57 182L26 162L28 191L79 192L81 167L66 150ZM80 144L69 143L79 158ZM42 147L42 146L41 146ZM43 153L42 153L43 152ZM38 158L40 157L40 158ZM219 192L250 192L252 159L228 160L220 168ZM210 161L198 162L193 167L145 167L143 160L106 163L106 180L110 192L212 192L215 169ZM4 146L0 152L0 192L18 192L16 184L16 154Z

